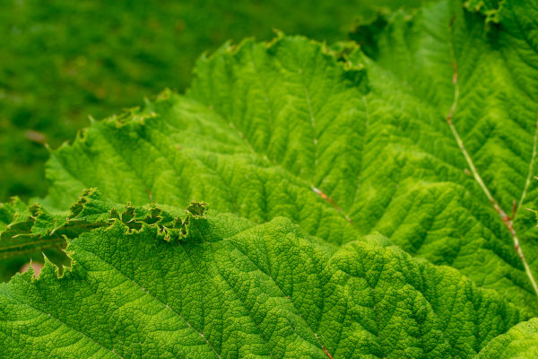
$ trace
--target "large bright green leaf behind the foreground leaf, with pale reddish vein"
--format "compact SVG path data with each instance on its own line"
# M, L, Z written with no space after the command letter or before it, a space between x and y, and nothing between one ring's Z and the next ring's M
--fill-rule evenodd
M188 98L164 92L53 153L48 201L97 187L116 202L287 216L334 244L378 231L536 311L537 55L508 22L534 9L505 3L487 26L456 1L395 13L366 55L282 36L224 46L199 61Z

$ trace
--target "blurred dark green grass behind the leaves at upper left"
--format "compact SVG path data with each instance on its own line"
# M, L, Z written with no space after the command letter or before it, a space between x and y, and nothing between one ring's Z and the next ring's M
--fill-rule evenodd
M0 202L44 196L48 151L165 87L183 91L196 57L273 29L347 39L372 6L420 0L0 1Z

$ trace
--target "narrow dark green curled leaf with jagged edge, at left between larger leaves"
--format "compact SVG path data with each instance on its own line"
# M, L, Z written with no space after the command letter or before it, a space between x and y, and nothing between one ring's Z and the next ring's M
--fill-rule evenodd
M189 227L189 220L182 219L181 215L204 218L206 205L192 203L183 214L176 213L174 209L163 211L154 205L135 208L130 203L116 205L97 189L91 188L85 190L65 213L50 215L40 206L33 205L28 209L30 215L13 215L13 222L0 232L0 259L61 246L65 240L95 228L107 227L114 221L124 223L131 231L140 230L143 224L157 226L160 237L165 241L179 240L187 235Z

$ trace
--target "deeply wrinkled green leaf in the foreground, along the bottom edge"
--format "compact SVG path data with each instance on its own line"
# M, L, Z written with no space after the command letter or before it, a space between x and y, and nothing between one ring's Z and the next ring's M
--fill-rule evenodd
M81 202L92 210L99 197ZM165 241L173 215L114 218L126 208L151 215L105 210L111 223L68 240L63 276L46 261L39 279L0 285L4 355L465 358L525 319L378 235L338 248L286 218L256 224L191 206L186 236Z

